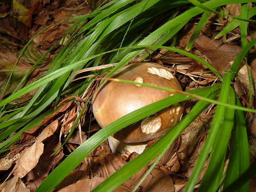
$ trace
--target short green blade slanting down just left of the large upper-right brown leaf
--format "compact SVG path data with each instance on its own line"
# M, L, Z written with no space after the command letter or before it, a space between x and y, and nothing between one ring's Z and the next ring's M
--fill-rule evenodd
M210 17L211 14L212 14L211 11L203 12L202 17L201 17L200 21L198 22L193 34L191 35L190 40L189 40L189 42L186 46L187 51L190 51L190 49L193 47L195 39L199 37L201 30L203 29L203 27L208 22L208 18Z

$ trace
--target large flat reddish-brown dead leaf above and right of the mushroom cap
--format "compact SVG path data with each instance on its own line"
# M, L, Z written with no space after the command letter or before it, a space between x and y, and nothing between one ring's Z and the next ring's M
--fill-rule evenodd
M237 45L224 44L219 40L212 40L205 35L200 35L194 42L194 47L211 62L221 74L230 69L230 62L234 61L241 48Z

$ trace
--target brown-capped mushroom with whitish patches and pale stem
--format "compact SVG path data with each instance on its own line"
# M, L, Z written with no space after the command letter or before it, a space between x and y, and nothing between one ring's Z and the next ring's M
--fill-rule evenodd
M180 90L175 76L164 66L135 63L118 70L113 78ZM93 96L93 114L103 128L118 118L158 100L172 96L167 91L120 82L105 82ZM178 103L135 124L123 128L108 138L112 152L142 153L147 141L163 136L181 118L183 106Z

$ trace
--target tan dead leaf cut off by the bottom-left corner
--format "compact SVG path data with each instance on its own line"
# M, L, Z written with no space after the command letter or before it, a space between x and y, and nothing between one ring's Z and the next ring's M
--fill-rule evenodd
M4 182L0 186L1 192L30 192L26 189L25 184L22 182L21 178L14 176L12 179Z

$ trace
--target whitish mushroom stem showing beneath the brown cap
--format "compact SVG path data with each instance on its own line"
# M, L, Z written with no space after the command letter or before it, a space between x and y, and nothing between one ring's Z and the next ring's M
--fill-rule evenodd
M124 150L128 150L130 153L136 152L141 154L147 145L147 142L127 144L115 139L113 136L109 136L107 139L112 153L125 153Z

